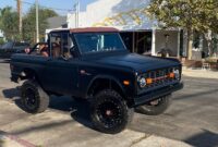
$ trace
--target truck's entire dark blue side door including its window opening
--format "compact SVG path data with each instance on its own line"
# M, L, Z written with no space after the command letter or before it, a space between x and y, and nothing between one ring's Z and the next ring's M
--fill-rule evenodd
M50 34L50 57L45 69L46 90L61 95L76 95L78 89L77 58L72 58L70 48L72 39L69 33Z

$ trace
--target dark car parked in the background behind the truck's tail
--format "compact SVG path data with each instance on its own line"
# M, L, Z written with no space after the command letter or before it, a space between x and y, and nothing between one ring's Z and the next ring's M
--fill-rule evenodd
M24 53L28 47L29 44L27 42L9 41L0 47L0 57L11 58L13 53Z

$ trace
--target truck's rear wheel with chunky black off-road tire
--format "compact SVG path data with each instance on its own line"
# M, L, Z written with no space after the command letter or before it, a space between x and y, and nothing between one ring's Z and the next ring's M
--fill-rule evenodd
M21 87L21 103L28 113L41 113L49 106L49 96L35 81L26 81Z

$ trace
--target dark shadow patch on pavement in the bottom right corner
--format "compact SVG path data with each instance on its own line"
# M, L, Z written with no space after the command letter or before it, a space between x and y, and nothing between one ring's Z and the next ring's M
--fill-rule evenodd
M194 135L184 142L195 147L217 147L218 134L204 130L203 133Z

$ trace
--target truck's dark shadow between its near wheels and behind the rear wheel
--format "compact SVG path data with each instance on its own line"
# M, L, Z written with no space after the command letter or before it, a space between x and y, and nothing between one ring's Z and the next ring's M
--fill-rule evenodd
M3 89L2 94L4 99L14 101L14 103L22 110L24 108L21 105L21 93L19 90L20 87ZM70 113L73 120L81 123L82 125L93 128L93 124L89 117L89 105L87 100L83 99L74 99L71 97L50 97L49 109L52 109L57 112L61 113Z

